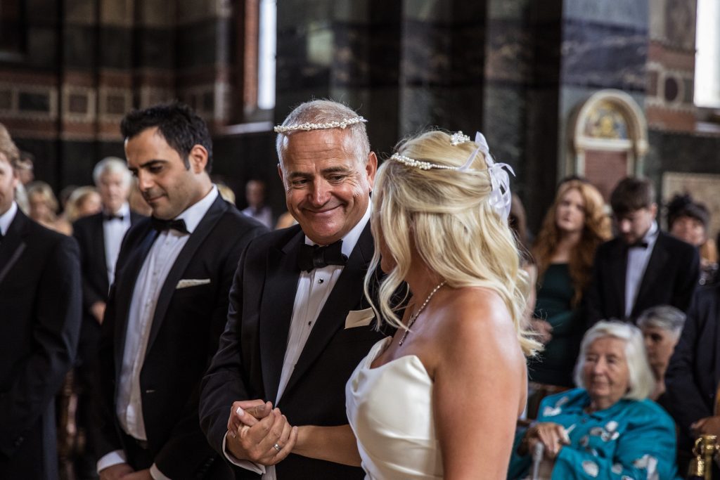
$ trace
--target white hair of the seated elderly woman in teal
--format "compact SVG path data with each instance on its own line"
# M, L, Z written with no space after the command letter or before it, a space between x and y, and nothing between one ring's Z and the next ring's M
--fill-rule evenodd
M586 388L585 381L582 378L582 369L585 367L585 353L587 353L590 345L595 343L595 340L607 337L625 340L625 358L628 365L630 388L623 398L646 399L655 387L655 377L647 361L642 332L638 327L618 320L603 320L585 332L585 337L582 338L580 344L580 356L577 358L577 364L575 365L575 384L583 389Z

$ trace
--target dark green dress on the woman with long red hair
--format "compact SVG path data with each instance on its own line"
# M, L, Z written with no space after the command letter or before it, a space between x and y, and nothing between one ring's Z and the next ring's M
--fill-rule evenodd
M572 307L575 289L567 263L552 263L540 282L535 317L552 325L552 340L537 361L528 366L531 381L557 386L574 386L572 369L580 350L582 328L578 310Z

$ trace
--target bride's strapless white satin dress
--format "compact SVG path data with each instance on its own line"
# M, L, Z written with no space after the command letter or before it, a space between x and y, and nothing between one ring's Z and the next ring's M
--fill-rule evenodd
M443 478L433 421L433 381L420 358L372 361L392 338L373 345L345 386L350 426L358 440L366 479Z

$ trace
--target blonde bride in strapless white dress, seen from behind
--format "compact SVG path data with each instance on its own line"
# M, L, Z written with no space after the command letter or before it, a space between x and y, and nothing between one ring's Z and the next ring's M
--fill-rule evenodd
M346 385L368 479L505 479L526 401L523 354L539 344L521 325L529 286L503 168L482 135L431 131L378 170L368 271L387 273L374 309L397 332ZM400 319L391 305L403 281L413 296Z

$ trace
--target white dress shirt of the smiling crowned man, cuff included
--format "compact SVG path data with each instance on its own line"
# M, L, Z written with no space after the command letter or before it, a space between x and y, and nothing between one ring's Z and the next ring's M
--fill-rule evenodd
M342 253L348 258L355 248L362 231L370 219L372 204L368 203L365 214L360 221L343 237ZM307 236L305 237L307 245L315 245ZM290 320L289 332L287 335L287 348L285 350L285 358L282 363L282 373L280 374L280 382L277 389L277 397L274 399L274 407L280 402L282 394L285 391L287 382L292 376L292 372L300 358L302 349L305 348L307 338L310 337L312 327L318 320L318 315L325 306L330 292L340 278L343 272L343 266L328 265L323 268L315 268L312 271L300 272L300 279L297 281L297 291L295 291L295 301L292 305L292 317ZM222 440L222 450L225 457L232 463L242 468L254 471L256 474L263 474L263 480L276 480L275 466L263 466L246 460L238 460L228 453L225 448L227 435Z

